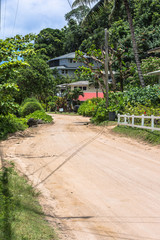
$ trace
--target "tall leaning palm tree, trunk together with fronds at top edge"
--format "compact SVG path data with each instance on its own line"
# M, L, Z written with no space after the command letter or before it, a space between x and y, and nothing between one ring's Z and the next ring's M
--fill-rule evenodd
M102 4L102 1L104 3L106 2L106 0L75 0L72 4L72 7L83 5L83 4L91 4L94 2L98 2L97 3L97 7L98 7L99 4ZM108 1L110 1L110 0L108 0ZM134 33L133 20L132 20L132 15L131 15L128 0L114 0L113 10L116 7L116 5L118 3L120 3L120 1L122 1L122 3L125 5L125 9L126 9L127 17L128 17L128 23L129 23L129 27L130 27L130 31L131 31L132 47L133 47L133 52L134 52L135 61L136 61L136 65L137 65L139 80L140 80L141 86L145 87L145 83L144 83L143 75L142 75L142 71L141 71L141 64L140 64L140 60L139 60L139 54L138 54L138 49L137 49L135 33ZM112 12L113 12L113 10L112 10Z

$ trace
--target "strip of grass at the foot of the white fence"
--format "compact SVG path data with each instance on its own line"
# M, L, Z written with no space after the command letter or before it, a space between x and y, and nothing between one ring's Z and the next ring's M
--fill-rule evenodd
M127 126L117 126L113 131L128 137L141 139L153 145L160 144L160 131L152 132L151 130L131 128Z

